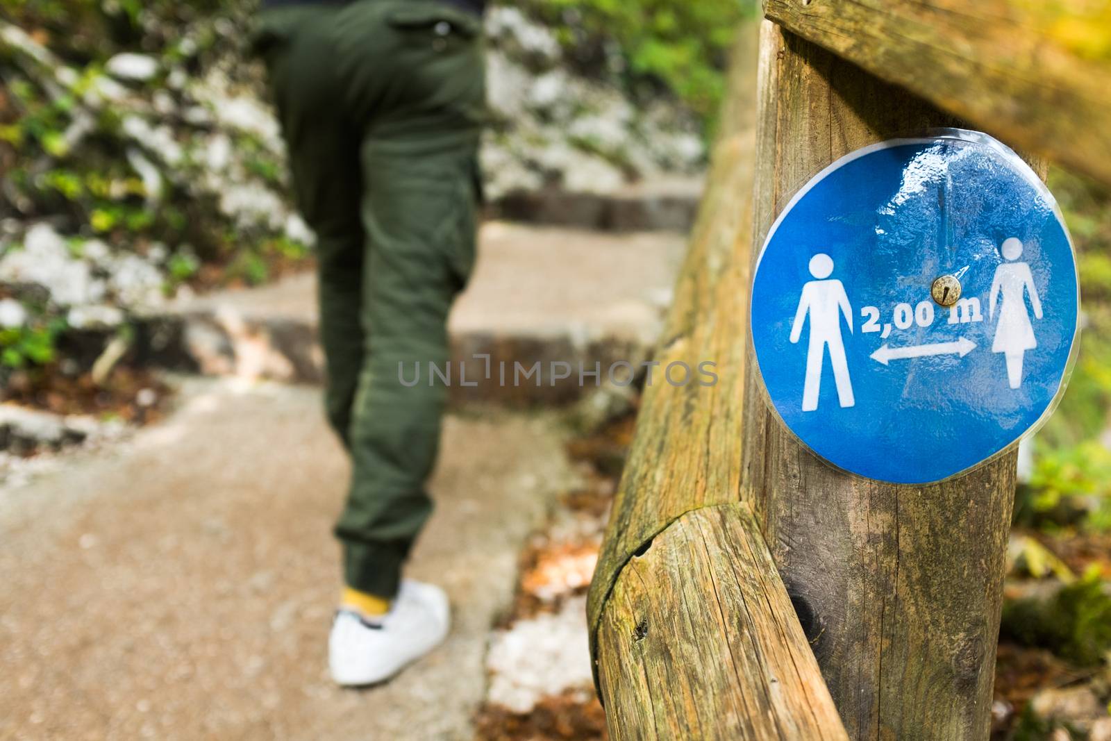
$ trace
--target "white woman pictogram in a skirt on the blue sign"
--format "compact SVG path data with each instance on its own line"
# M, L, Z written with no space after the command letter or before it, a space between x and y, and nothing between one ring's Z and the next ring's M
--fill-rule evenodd
M1003 297L991 351L1002 352L1007 358L1007 380L1012 389L1017 389L1022 385L1022 356L1027 350L1038 347L1024 294L1030 297L1030 308L1038 319L1042 318L1041 299L1038 298L1030 266L1025 262L1013 262L1022 254L1022 242L1017 237L1011 237L1003 241L1001 251L1010 262L995 268L995 278L991 281L991 296L988 299L989 320L994 318L995 301L1000 294Z

